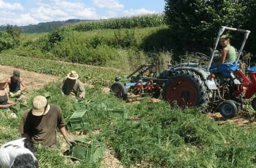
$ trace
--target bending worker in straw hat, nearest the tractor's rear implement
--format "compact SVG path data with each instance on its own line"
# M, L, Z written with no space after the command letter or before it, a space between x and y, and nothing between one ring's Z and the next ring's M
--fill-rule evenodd
M76 71L71 71L61 83L61 93L62 95L76 97L78 90L80 91L79 98L85 98L86 90L83 83L78 79Z

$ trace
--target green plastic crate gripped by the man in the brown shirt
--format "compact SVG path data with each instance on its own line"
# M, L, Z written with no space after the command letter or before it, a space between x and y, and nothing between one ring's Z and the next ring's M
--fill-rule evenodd
M78 139L75 146L70 146L69 156L81 161L96 163L103 157L105 145L88 138Z

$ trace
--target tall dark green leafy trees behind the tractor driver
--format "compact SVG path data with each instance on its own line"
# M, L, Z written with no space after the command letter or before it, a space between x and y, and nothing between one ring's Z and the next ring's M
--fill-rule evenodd
M183 55L187 51L208 54L210 52L208 47L212 47L215 42L220 26L245 28L245 23L250 23L252 19L250 15L254 13L251 9L255 9L247 5L255 4L255 0L165 0L165 2L165 19L170 27L172 45L177 55Z

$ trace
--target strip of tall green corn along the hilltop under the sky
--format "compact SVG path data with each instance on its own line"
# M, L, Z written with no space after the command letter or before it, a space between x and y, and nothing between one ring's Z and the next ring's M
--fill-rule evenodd
M120 29L135 27L155 27L165 25L164 14L149 14L133 16L132 18L118 18L109 20L99 20L82 22L73 26L77 31L89 31L95 29Z

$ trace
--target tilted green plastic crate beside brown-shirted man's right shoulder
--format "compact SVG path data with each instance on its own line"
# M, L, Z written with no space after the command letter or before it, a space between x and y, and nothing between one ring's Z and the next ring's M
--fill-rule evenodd
M75 111L69 118L73 129L82 129L89 124L87 110Z

